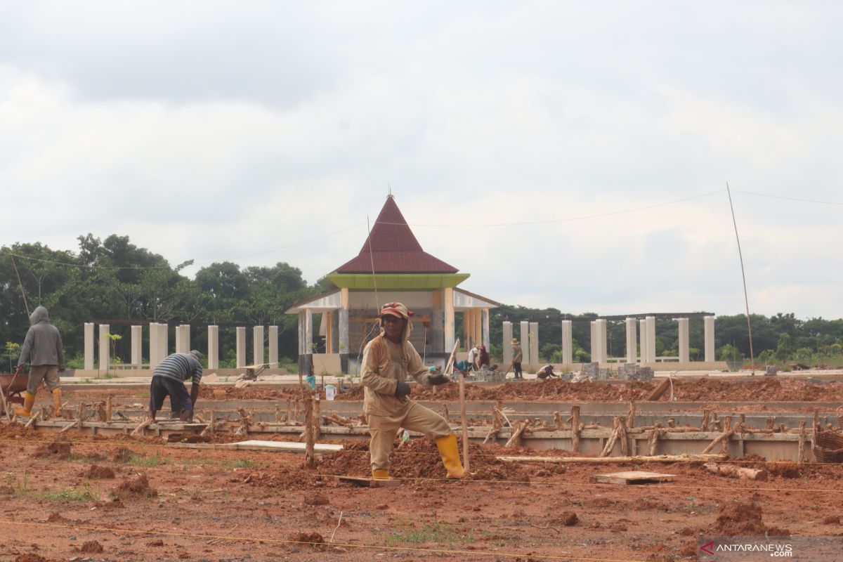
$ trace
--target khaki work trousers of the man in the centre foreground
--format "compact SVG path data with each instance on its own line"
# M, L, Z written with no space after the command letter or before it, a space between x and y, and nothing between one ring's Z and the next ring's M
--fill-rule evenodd
M445 419L420 404L410 402L403 414L400 415L368 415L369 434L372 441L369 442L369 452L372 458L372 470L389 469L389 452L392 450L392 443L395 442L395 434L400 427L405 430L418 431L428 437L438 439L449 436L454 431L448 426Z

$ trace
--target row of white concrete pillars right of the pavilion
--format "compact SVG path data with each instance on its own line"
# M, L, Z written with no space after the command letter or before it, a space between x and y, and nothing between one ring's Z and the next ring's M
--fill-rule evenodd
M705 340L705 361L715 361L714 356L714 317L706 316L703 320L703 335ZM690 361L688 318L677 318L679 328L679 362ZM638 326L636 326L638 324ZM638 335L641 333L641 362L656 362L656 318L647 316L641 320L626 318L626 361L638 361ZM503 359L510 361L513 356L513 323L503 322ZM606 351L606 320L599 318L591 322L591 360L605 363L609 356ZM524 353L522 362L539 362L539 323L521 322L521 348ZM570 365L573 362L573 329L571 320L562 320L562 363Z

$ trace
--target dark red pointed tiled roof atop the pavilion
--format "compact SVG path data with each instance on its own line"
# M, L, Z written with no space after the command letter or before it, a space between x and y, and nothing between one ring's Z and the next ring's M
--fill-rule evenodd
M370 245L371 242L371 245ZM372 251L369 252L371 247ZM410 230L392 195L375 220L360 254L336 268L336 273L456 273L453 265L427 254Z

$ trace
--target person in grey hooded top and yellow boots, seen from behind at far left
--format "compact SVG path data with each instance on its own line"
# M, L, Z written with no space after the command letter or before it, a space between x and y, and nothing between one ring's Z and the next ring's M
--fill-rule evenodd
M24 372L24 363L30 361L30 382L26 385L24 407L15 408L17 415L30 415L35 404L35 392L44 381L53 395L55 415L62 409L62 383L59 373L64 372L64 351L62 335L50 324L50 315L44 307L36 307L30 314L30 329L26 332L24 345L20 348L18 368L14 374Z

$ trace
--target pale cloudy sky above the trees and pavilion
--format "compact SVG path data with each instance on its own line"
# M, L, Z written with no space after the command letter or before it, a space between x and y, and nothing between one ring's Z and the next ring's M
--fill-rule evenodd
M840 3L3 2L0 244L357 254L511 304L843 317ZM191 274L196 271L192 268Z

